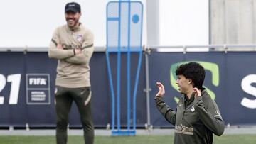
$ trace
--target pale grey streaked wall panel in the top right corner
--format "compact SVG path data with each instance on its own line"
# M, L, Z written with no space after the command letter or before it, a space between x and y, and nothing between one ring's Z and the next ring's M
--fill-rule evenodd
M256 0L215 0L211 6L212 44L256 43Z

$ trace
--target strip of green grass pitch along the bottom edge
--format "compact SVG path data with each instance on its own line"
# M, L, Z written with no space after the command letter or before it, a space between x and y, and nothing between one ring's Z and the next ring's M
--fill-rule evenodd
M162 144L173 143L173 135L137 135L137 136L95 136L95 144ZM255 144L256 135L214 136L215 144ZM55 144L54 136L0 136L3 144ZM82 144L82 136L68 136L68 144Z

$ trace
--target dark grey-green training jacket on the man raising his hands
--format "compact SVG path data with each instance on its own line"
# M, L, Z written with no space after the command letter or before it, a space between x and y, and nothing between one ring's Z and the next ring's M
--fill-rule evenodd
M193 97L192 94L191 97ZM177 111L170 109L162 97L156 97L156 107L169 123L175 126L175 144L206 144L213 143L213 133L222 135L225 124L217 104L206 90L201 96L194 98L185 108L185 96L178 102Z

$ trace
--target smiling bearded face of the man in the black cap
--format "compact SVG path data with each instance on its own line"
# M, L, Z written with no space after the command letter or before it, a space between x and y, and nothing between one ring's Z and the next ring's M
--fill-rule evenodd
M73 11L67 11L65 13L65 19L68 23L68 26L70 28L75 28L75 26L78 26L80 16L81 16L81 13L75 13Z

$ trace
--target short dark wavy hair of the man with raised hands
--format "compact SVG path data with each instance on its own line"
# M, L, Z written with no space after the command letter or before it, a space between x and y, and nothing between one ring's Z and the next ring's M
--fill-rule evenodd
M193 87L203 91L203 81L206 77L206 71L197 62L189 62L177 67L176 75L183 75L186 79L191 79Z

